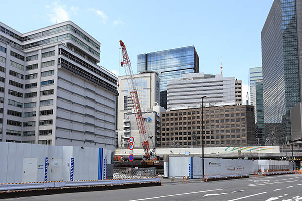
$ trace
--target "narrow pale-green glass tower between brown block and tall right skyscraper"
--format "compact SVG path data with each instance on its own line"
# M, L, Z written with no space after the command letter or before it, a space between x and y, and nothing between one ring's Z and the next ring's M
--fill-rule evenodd
M254 113L255 113L255 139L256 143L264 144L264 110L263 110L263 83L262 80L256 80L252 89L254 97Z

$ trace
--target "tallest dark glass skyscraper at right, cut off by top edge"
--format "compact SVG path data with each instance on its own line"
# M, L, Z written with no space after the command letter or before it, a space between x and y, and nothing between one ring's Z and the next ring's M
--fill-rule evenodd
M274 0L261 31L265 136L291 140L290 109L301 101L302 1Z

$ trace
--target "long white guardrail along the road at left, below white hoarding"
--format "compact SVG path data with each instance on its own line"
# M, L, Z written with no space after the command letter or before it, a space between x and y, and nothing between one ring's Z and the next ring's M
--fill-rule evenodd
M68 187L92 187L92 186L113 186L136 183L160 183L161 178L141 178L141 179L120 179L120 180L85 180L85 181L49 181L49 182L30 182L30 183L4 183L0 184L0 192L12 192L15 190L35 190L35 189L54 189Z

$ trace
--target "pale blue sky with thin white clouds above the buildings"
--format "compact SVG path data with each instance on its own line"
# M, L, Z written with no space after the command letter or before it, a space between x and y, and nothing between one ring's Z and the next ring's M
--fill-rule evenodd
M261 30L273 0L2 1L0 21L26 33L71 20L101 43L99 65L123 75L119 40L133 68L137 55L194 45L199 71L243 81L262 66Z

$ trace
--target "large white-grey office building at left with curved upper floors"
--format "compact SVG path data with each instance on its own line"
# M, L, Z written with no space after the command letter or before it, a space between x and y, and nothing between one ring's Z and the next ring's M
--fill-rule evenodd
M1 140L114 150L117 78L100 43L71 21L0 26Z

